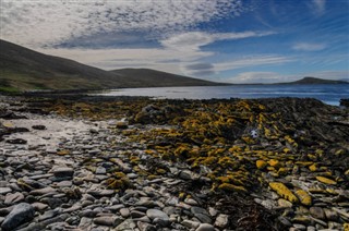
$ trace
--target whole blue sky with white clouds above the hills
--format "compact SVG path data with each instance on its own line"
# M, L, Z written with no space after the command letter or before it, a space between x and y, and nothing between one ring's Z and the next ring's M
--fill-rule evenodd
M0 0L0 38L104 70L349 78L348 0Z

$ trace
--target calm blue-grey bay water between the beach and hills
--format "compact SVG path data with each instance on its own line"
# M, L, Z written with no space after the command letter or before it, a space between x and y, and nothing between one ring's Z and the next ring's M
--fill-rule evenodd
M328 105L339 105L341 98L349 98L348 84L316 85L232 85L203 87L153 87L109 90L98 95L148 96L170 99L212 98L273 98L300 97L316 98Z

